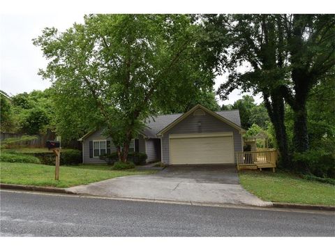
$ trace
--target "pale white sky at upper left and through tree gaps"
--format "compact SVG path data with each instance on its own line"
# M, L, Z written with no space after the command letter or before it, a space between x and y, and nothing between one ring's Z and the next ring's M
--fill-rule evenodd
M31 39L39 36L47 26L65 31L74 22L82 22L83 16L84 13L1 15L0 89L12 96L50 87L50 82L37 74L39 68L47 66L47 61L43 58L40 48L35 47ZM218 89L224 79L225 76L217 77L214 89ZM228 100L219 100L218 97L217 100L220 105L228 105L243 95L236 90L230 94ZM260 96L255 97L255 100L262 101Z

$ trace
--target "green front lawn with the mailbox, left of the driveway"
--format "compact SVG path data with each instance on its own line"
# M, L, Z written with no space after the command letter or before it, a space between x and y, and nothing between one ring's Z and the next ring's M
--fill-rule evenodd
M54 166L0 162L1 183L52 186L57 188L68 188L74 185L88 184L119 176L154 174L155 172L135 169L117 171L112 170L107 165L61 166L59 181L55 181Z

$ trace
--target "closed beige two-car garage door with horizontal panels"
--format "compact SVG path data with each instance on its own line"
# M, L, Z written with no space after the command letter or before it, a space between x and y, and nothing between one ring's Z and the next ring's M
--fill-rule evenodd
M172 165L234 163L232 135L170 135L170 158Z

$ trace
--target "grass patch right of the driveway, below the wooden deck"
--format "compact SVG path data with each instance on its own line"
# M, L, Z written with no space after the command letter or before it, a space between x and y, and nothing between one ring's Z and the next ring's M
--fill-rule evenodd
M265 201L335 206L335 185L328 183L267 171L240 172L239 179L246 190Z

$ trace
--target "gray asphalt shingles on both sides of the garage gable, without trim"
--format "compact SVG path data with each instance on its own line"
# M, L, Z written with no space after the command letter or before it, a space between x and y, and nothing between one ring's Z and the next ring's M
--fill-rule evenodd
M223 116L223 118L228 119L229 121L232 121L232 123L241 127L239 110L216 112L216 114ZM183 114L158 115L148 119L146 123L147 127L143 130L144 135L147 135L147 137L157 137L156 135L158 132L170 125L170 123L178 119L181 115Z

